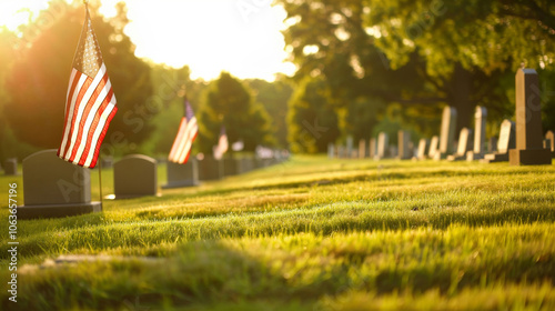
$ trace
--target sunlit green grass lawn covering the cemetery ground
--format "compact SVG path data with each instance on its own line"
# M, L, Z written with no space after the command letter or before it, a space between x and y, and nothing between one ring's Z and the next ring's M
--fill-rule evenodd
M293 157L162 193L19 221L2 310L555 309L555 165Z

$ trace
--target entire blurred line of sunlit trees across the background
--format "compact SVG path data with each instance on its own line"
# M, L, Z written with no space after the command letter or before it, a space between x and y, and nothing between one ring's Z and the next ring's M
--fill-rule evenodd
M403 128L431 137L445 104L457 127L488 109L488 134L514 118L514 74L535 68L542 82L544 129L555 129L555 3L547 0L275 0L296 73L275 81L226 72L192 80L188 67L134 56L123 33L123 3L105 19L90 4L119 112L114 154L165 156L186 94L200 122L196 152L211 152L220 128L245 151L258 144L323 152L347 136L355 141ZM82 26L82 7L54 0L19 34L0 29L0 159L58 148L67 83ZM53 13L54 12L54 13ZM115 143L114 143L115 144ZM109 150L109 149L107 149Z

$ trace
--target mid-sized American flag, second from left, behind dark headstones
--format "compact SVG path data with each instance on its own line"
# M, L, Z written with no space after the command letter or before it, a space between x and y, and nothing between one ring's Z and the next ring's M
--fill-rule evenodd
M172 150L168 160L175 163L186 163L189 154L191 154L191 147L196 133L199 132L199 124L194 118L193 109L188 100L185 100L185 116L181 119L179 132L173 141Z

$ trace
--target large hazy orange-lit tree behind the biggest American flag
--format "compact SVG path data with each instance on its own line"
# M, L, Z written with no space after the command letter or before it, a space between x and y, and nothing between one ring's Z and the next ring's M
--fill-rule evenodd
M49 10L37 19L40 22L50 18L51 24L27 26L40 31L29 47L21 47L21 57L7 81L10 100L6 114L11 129L19 140L41 148L56 148L61 140L67 83L84 17L82 6L73 8L64 1L52 1L50 8L53 7L60 12L56 19ZM150 68L134 56L134 46L123 33L128 22L124 6L118 7L118 16L110 21L97 14L95 7L89 7L119 108L104 144L118 132L118 148L113 149L129 150L150 133L145 122L152 96Z

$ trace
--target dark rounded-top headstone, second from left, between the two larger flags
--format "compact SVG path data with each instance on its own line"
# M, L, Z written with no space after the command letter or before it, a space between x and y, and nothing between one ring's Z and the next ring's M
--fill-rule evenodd
M157 160L142 154L123 157L113 164L115 199L158 194Z

